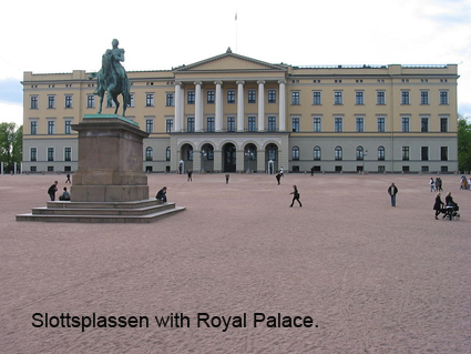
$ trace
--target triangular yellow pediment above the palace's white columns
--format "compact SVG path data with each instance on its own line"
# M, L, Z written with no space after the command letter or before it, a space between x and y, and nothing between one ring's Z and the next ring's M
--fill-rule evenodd
M190 65L182 65L174 70L175 73L201 73L201 72L260 72L260 71L286 71L283 65L270 64L264 61L243 57L232 52L212 57Z

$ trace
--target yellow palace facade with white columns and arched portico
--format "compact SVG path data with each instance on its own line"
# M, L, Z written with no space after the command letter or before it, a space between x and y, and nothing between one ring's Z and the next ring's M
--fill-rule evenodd
M71 125L99 107L89 74L24 72L23 172L78 169ZM149 172L458 170L455 64L295 67L228 49L127 77Z

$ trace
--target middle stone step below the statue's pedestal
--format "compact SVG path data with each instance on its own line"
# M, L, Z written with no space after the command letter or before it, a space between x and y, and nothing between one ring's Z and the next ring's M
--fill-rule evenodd
M89 203L86 203L89 204ZM143 206L143 208L132 208L132 209L122 209L122 208L110 208L110 209L100 209L100 208L55 208L55 204L52 204L53 206L50 206L51 204L48 203L48 206L42 208L33 208L32 214L33 215L126 215L126 216L137 216L137 215L146 215L156 213L158 211L173 209L175 208L175 203L165 203L165 204L156 204L156 205L150 205L150 206ZM145 204L147 205L147 204ZM82 205L84 206L84 205ZM94 205L93 205L94 206Z

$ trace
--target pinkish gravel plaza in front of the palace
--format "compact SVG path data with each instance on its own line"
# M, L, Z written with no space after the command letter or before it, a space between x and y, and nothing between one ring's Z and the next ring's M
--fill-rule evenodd
M187 210L76 224L14 219L64 175L0 175L0 352L470 353L471 192L441 175L461 220L437 221L430 176L151 174L152 196L166 185ZM294 184L303 208L289 208ZM106 322L83 327L94 314ZM296 316L313 325L287 327Z

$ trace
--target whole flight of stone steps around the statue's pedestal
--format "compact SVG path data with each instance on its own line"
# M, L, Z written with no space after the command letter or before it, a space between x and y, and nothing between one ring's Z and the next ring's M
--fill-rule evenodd
M155 199L132 202L48 202L32 213L17 215L17 221L80 223L151 223L184 211L175 203Z

